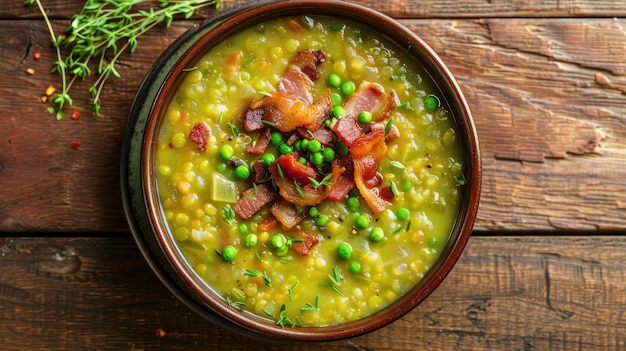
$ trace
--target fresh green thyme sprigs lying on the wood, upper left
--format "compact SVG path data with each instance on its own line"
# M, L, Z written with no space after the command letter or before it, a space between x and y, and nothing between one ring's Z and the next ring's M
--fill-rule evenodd
M158 0L157 9L134 8L135 5L149 2L154 0L87 0L81 12L72 16L70 25L61 35L54 32L41 0L24 2L26 5L37 4L56 50L52 73L61 75L62 84L60 92L52 98L57 119L63 119L64 107L72 105L70 88L74 82L92 75L92 60L97 61L98 77L88 91L93 110L99 114L105 82L111 75L120 78L115 63L127 49L135 51L142 34L161 23L169 27L176 15L182 14L189 18L201 7L215 5L215 8L219 8L221 0ZM61 52L62 47L69 49L65 57ZM55 113L54 108L49 111Z

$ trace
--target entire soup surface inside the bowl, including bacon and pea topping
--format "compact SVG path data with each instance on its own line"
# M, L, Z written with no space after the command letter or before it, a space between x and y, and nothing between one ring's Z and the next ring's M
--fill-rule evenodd
M405 51L354 23L270 20L219 43L156 146L163 216L233 308L346 323L418 283L464 183L452 116Z

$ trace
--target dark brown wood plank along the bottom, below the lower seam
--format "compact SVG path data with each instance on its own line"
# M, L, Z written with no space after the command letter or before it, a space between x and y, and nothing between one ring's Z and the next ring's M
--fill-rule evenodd
M472 237L442 286L333 350L619 350L622 236ZM0 241L3 350L317 350L204 321L161 285L128 237ZM163 328L164 338L155 331Z

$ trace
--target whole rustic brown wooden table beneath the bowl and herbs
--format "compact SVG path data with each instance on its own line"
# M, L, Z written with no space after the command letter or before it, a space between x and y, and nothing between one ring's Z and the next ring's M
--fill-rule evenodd
M380 331L323 347L626 348L626 2L362 3L418 33L457 77L481 142L483 195L437 291ZM44 1L58 31L82 4ZM0 4L0 349L320 348L247 340L203 320L162 286L129 233L119 190L127 111L159 54L214 13L143 37L100 116L85 82L70 109L80 119L56 121L39 101L60 82L48 73L44 22L21 0Z

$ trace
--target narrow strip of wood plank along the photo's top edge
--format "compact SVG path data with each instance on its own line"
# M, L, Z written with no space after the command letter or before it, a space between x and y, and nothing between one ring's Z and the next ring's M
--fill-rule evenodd
M353 0L352 2L381 11L394 18L487 18L487 17L622 17L626 4L620 0L425 0L425 1L376 1ZM50 17L69 18L80 12L84 2L71 0L42 0ZM249 3L247 0L222 0L222 11ZM11 2L0 4L0 18L37 18L35 8ZM214 13L202 9L198 18Z

